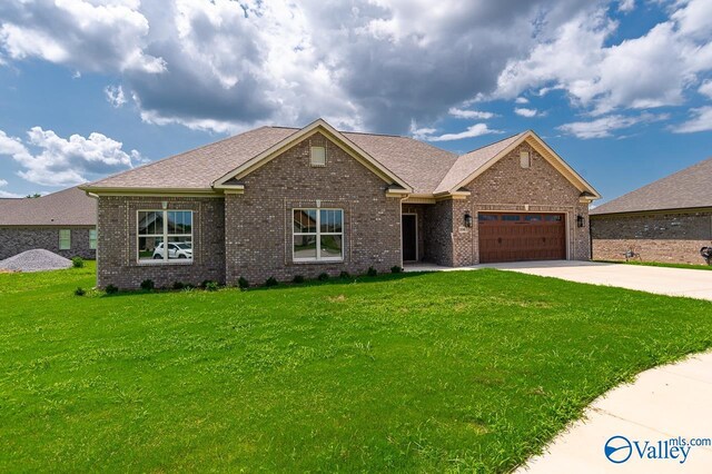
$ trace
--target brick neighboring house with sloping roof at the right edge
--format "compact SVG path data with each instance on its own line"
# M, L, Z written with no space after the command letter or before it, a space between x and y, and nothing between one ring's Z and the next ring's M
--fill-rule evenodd
M595 259L704 264L712 241L712 158L592 209ZM637 258L637 256L635 257Z

